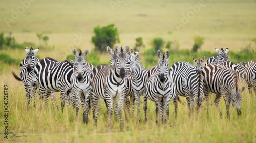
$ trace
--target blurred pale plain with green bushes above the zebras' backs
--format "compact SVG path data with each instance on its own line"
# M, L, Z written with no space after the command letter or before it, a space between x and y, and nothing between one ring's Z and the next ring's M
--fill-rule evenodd
M39 59L58 61L73 59L73 48L89 49L86 61L93 65L109 64L106 46L115 44L140 50L147 68L157 64L157 50L170 50L170 64L208 59L226 47L234 63L255 59L255 1L203 1L196 12L200 2L1 1L0 71L10 71L9 65L18 70L31 46L40 48ZM193 18L182 22L189 12ZM177 29L175 22L183 26Z

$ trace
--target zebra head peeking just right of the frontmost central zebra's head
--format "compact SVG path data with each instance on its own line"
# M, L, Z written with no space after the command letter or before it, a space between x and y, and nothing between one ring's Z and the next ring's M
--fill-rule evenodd
M130 66L130 71L132 73L136 72L136 67L139 66L139 51L135 51L133 49L131 49L129 51L129 54L128 54L128 58L127 58L127 64L126 66Z

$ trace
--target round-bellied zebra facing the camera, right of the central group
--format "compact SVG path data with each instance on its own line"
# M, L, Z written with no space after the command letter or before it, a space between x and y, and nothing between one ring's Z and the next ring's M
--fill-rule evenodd
M162 123L169 119L169 102L176 97L176 89L172 77L169 75L169 51L163 56L157 51L159 58L158 72L153 73L147 80L145 96L156 104L156 123L158 123L158 112ZM144 102L144 104L146 104ZM145 105L144 105L145 106ZM166 111L164 117L164 110ZM145 117L146 118L146 117Z

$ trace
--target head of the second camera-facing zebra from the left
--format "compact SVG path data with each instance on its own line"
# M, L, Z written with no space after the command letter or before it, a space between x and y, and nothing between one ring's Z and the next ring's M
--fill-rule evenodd
M86 61L84 58L88 54L88 49L86 49L83 53L79 49L79 53L76 51L76 49L73 49L73 54L75 55L75 61L73 61L73 69L74 69L74 74L76 74L76 78L79 82L83 80L83 75L86 72Z

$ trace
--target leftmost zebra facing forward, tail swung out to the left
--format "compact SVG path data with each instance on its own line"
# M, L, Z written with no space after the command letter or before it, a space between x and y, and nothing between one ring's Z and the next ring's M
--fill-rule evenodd
M26 96L27 96L27 109L30 108L30 101L33 95L33 100L34 100L34 108L35 108L35 95L36 95L36 91L38 88L38 82L35 78L35 73L34 73L34 69L35 69L35 65L38 63L39 59L36 58L35 54L38 52L39 48L37 49L33 49L33 47L29 48L26 47L25 51L26 51L26 57L25 59L22 60L22 62L20 62L20 72L19 75L20 77L18 77L13 71L12 71L12 75L14 76L14 78L18 81L22 81L24 83L24 89L26 91ZM33 88L32 91L32 95L31 95L31 89Z

